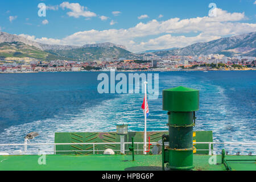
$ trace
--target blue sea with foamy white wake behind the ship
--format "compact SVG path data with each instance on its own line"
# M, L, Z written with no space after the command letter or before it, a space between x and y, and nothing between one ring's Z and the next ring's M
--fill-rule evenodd
M255 142L255 71L154 73L159 73L159 98L148 101L148 131L168 130L162 90L181 85L200 90L195 130L212 130L214 142ZM21 143L32 131L39 133L32 142L53 143L55 132L115 131L120 122L130 131L143 131L143 93L99 94L98 74L0 74L0 143Z

